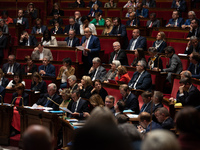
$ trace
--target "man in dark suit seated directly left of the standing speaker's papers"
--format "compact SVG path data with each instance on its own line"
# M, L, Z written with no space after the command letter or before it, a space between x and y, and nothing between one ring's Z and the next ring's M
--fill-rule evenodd
M80 40L79 38L76 37L76 32L74 29L70 29L68 35L69 37L65 38L65 41L67 42L67 46L76 47L80 45Z

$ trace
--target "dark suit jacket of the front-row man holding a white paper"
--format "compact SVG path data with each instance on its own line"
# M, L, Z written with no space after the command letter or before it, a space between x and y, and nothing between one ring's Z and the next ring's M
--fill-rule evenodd
M76 102L73 102L71 108L71 111L73 113L75 112L75 108L76 108ZM80 99L76 112L80 113L80 116L78 118L83 118L83 112L89 112L88 102L86 100ZM70 117L74 116L70 115Z

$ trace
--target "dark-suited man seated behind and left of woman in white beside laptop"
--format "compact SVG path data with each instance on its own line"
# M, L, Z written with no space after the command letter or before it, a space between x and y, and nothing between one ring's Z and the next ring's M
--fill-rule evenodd
M35 20L36 25L33 27L31 34L43 34L45 30L47 30L47 27L45 25L42 25L42 20L37 18Z

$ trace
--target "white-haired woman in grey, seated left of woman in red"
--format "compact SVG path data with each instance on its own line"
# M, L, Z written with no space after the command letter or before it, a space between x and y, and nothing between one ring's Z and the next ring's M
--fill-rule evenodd
M120 66L121 63L119 60L113 60L111 64L111 69L107 72L105 77L103 78L104 83L108 83L108 80L115 80L117 75L117 67Z

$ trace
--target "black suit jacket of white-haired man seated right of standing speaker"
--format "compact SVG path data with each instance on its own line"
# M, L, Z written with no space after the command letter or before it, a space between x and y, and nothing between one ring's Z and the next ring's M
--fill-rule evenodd
M114 56L115 56L115 51L110 54L109 64L112 63ZM119 51L116 60L119 60L121 65L128 66L128 58L127 58L126 52L124 50L121 49Z

